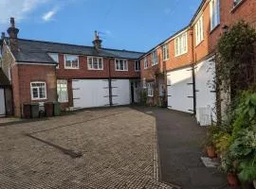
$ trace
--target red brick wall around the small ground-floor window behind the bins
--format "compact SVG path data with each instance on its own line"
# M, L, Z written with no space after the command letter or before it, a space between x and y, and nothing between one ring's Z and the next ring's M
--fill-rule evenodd
M37 101L56 101L56 75L53 65L16 64L12 70L14 112L21 116L22 104ZM30 82L46 82L46 100L31 100Z

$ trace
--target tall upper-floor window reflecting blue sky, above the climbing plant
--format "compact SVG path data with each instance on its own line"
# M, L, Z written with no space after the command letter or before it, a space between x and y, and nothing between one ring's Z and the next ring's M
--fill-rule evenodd
M210 0L210 30L220 24L220 0Z

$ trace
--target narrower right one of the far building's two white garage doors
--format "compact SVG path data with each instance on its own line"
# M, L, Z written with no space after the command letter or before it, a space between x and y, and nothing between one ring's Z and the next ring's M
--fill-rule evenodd
M131 103L131 86L129 79L112 79L113 105L127 105Z

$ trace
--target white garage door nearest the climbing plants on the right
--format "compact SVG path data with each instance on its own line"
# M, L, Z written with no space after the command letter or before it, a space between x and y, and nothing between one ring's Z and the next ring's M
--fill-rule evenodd
M213 88L215 77L215 62L204 60L196 65L196 119L201 126L210 125L216 121L216 94Z

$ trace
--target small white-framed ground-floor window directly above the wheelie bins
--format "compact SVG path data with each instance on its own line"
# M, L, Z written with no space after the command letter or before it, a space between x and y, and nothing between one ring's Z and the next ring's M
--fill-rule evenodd
M32 100L46 99L46 82L31 82L30 89Z

